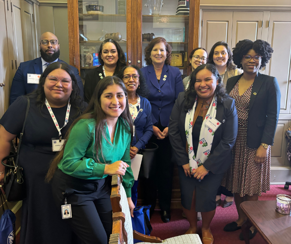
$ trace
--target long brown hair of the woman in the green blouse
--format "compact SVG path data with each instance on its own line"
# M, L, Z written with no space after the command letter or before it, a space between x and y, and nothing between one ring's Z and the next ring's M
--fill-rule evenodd
M66 142L67 139L70 136L70 132L72 130L72 128L76 125L76 123L78 121L80 121L81 119L95 119L96 121L96 125L95 125L95 148L96 148L96 158L94 158L98 163L101 163L99 160L99 156L98 156L98 151L101 152L101 155L103 157L102 154L102 149L101 149L101 137L105 138L105 140L108 142L108 140L106 139L105 136L105 125L106 125L106 115L103 112L102 108L101 108L101 102L100 102L100 97L103 93L103 91L110 85L119 85L122 90L125 93L126 96L126 107L124 109L124 111L121 113L120 117L122 118L123 122L127 125L130 133L131 133L131 138L133 137L133 122L132 122L132 118L129 112L129 105L128 105L128 98L127 98L127 90L123 84L123 81L116 77L116 76L106 76L105 78L101 79L98 83L97 86L95 88L95 91L93 93L92 99L89 102L88 107L86 108L86 110L84 111L83 115L81 115L79 118L77 118L72 125L70 126L69 130L66 133L65 136L65 143L64 146L62 147L62 149L55 155L55 157L52 159L49 169L48 169L48 174L46 176L46 181L49 182L52 177L53 174L57 168L57 164L62 160L63 155L64 155L64 150L65 150L65 146L66 146ZM109 143L109 142L108 142ZM104 157L103 157L104 159ZM105 160L104 160L105 161Z

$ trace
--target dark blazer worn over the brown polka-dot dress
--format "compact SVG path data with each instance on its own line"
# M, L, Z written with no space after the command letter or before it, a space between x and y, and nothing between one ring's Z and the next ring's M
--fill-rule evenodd
M243 73L229 78L230 93ZM247 118L247 146L258 148L261 143L273 146L278 124L281 93L276 77L258 73L254 79Z

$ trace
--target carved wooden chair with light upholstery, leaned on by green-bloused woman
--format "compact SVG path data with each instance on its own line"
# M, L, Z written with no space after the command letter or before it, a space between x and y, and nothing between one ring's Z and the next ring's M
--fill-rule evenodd
M111 185L110 199L113 212L113 228L109 244L133 244L133 239L141 241L139 244L202 244L197 234L183 235L162 241L158 237L147 236L133 231L127 197L122 186L122 177L120 175L113 175Z

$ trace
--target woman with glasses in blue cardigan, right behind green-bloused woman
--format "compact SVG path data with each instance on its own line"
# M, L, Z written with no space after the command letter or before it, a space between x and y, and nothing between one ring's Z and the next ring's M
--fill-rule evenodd
M139 150L145 148L152 136L151 106L146 99L149 91L145 78L136 65L124 67L118 77L123 80L126 87L129 109L135 128L135 136L130 147L130 157L133 159ZM131 188L131 199L135 206L138 199L138 183L138 180L135 181Z

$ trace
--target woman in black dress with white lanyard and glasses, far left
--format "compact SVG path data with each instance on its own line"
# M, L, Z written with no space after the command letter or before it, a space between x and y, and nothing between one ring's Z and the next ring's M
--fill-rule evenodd
M85 109L73 70L64 62L50 64L41 75L37 90L27 97L30 109L19 151L27 194L22 201L20 244L36 243L36 238L42 244L71 244L76 238L61 221L45 176L56 153L53 142L64 139ZM0 159L9 155L12 140L22 131L27 102L25 96L17 98L0 119ZM0 174L0 183L2 180Z

